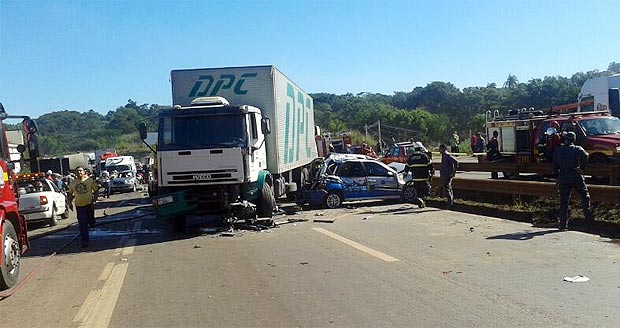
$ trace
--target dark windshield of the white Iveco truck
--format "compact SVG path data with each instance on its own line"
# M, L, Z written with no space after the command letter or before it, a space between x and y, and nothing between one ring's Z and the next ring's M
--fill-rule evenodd
M247 145L245 117L241 115L165 117L160 123L159 149Z

